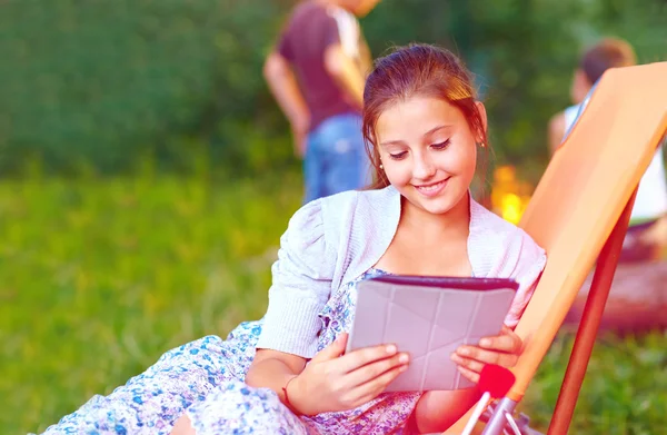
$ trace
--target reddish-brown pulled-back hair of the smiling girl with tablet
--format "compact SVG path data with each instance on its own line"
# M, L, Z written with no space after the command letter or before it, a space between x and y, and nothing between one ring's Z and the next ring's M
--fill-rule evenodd
M430 45L398 47L376 61L364 89L364 141L374 167L370 189L389 185L380 169L376 125L380 115L391 105L414 96L440 98L457 107L478 140L487 144L481 115L470 72L450 51Z

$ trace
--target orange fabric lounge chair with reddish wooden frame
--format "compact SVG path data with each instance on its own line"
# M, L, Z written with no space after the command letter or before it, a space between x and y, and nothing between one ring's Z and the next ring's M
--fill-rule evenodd
M517 333L526 350L517 380L482 435L500 435L524 397L587 274L591 289L548 434L571 422L639 179L667 130L667 62L608 70L532 196L519 226L547 250L547 265ZM460 434L470 413L445 434ZM512 432L508 432L512 433Z

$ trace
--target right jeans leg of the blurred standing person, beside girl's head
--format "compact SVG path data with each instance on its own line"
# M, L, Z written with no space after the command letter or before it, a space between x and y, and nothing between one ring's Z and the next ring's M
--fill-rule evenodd
M341 115L327 120L325 195L361 189L370 184L370 164L364 148L361 117Z

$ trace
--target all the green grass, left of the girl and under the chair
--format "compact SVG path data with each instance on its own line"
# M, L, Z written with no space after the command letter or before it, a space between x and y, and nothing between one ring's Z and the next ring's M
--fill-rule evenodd
M266 309L300 179L142 175L0 181L0 434L43 431L163 352ZM524 407L545 428L570 338ZM570 433L667 426L667 337L604 339Z

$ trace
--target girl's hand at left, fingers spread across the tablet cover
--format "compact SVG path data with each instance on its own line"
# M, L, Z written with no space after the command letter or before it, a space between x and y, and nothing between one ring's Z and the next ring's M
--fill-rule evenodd
M395 345L357 349L341 356L348 335L310 360L288 384L288 397L296 411L306 415L354 409L377 397L408 367L408 354Z

